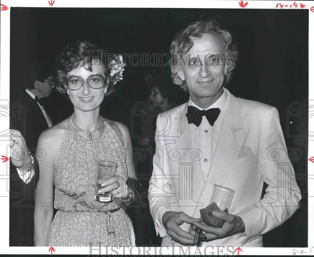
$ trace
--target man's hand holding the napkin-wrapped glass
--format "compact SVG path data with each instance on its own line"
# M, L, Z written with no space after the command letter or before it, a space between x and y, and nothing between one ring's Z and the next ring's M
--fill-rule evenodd
M225 224L222 227L212 227L204 225L199 221L193 222L193 224L202 229L203 232L206 232L205 236L208 240L245 232L245 224L240 217L219 210L212 211L212 214L221 220L225 220Z

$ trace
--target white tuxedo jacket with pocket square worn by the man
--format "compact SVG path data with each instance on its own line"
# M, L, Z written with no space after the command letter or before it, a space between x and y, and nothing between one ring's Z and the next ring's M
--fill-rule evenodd
M217 146L204 180L202 152L196 149L194 124L187 123L187 106L186 103L161 113L157 119L156 154L149 186L149 205L157 232L165 236L155 220L160 207L200 218L199 210L209 205L214 184L219 184L235 191L229 213L240 216L246 229L201 246L263 246L261 235L287 220L300 201L277 109L228 92ZM268 188L261 199L264 181ZM189 224L180 227L187 231ZM163 238L162 244L180 245L168 237Z

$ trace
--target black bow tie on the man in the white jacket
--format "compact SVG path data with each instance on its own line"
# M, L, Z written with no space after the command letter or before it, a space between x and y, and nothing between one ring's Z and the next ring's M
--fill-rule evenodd
M205 115L208 120L208 123L211 126L214 126L214 123L217 120L219 113L220 113L219 108L211 108L205 111L205 110L200 110L194 106L188 106L187 114L186 114L187 122L189 124L193 123L198 127L202 122L203 116Z

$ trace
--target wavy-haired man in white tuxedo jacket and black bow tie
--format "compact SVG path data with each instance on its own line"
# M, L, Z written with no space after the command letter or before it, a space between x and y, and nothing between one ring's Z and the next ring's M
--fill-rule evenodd
M156 124L149 205L162 245L193 245L187 232L193 223L206 236L202 247L262 247L262 235L299 208L277 109L224 88L237 54L215 20L191 23L171 44L172 79L190 100L160 114ZM200 222L214 184L234 190L228 213L212 212L225 220L221 228Z

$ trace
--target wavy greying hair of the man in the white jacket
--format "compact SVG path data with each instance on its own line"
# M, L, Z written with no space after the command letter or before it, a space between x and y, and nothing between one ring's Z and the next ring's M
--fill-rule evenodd
M227 74L225 76L224 85L228 83L231 75L236 67L235 61L238 58L239 52L236 50L235 43L232 42L232 37L229 31L220 27L215 18L208 20L200 20L190 23L184 30L179 31L170 46L171 58L169 64L171 67L171 77L176 85L180 85L184 90L188 90L184 80L178 74L181 70L181 56L186 54L193 46L191 37L202 38L204 33L214 33L219 36L223 47L225 48L225 56L230 57L231 63L225 63L227 66Z

